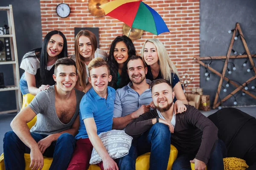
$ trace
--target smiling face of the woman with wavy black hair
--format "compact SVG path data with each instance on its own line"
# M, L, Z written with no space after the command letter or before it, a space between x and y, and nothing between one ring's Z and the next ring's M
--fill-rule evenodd
M119 41L116 43L113 55L118 64L123 64L128 59L128 48L125 42Z

